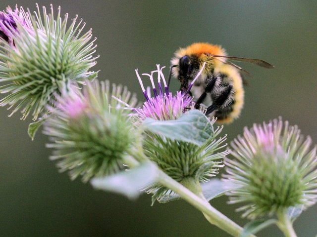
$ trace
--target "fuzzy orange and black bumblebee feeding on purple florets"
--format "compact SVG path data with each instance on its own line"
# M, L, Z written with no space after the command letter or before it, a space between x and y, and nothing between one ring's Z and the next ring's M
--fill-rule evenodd
M205 63L190 92L198 98L195 108L199 108L204 102L210 105L206 108L206 115L217 117L219 123L230 123L239 117L244 104L243 84L246 84L246 81L240 73L249 75L231 61L274 68L260 59L227 56L225 49L220 45L193 43L175 52L171 59L168 83L172 74L181 82L180 90L187 91L189 83L198 75Z

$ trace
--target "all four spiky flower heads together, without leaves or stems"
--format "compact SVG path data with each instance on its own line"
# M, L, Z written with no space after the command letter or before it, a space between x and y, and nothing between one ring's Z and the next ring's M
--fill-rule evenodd
M169 92L164 67L157 65L151 74L142 74L150 78L153 96L135 70L146 99L136 108L136 99L126 88L87 80L97 76L88 70L98 56L93 56L96 45L91 30L82 34L82 20L77 24L76 16L67 27L68 15L61 19L60 8L56 18L52 5L50 14L45 7L42 14L38 5L37 9L34 17L22 7L0 12L0 82L4 83L0 93L8 93L0 106L8 105L11 114L20 110L22 118L32 113L34 120L50 114L44 133L52 141L48 145L54 149L51 158L58 159L60 170L69 170L72 179L82 176L88 181L124 169L125 158L133 155L133 147L142 139L136 131L139 122L177 120L194 109L189 91L205 63L188 88L175 95ZM86 84L83 92L77 83ZM138 123L131 119L133 115ZM211 125L214 121L208 120ZM235 184L228 193L230 203L246 203L238 209L245 217L278 214L289 207L305 209L316 203L317 148L310 150L311 139L304 140L297 126L285 122L283 129L282 120L275 119L245 128L243 137L231 143L229 153L234 159L225 158L228 151L221 151L226 146L226 136L217 138L221 130L212 129L201 146L142 131L143 143L137 146L143 146L144 155L178 182L188 177L197 183L208 181L224 166L224 158L224 180ZM158 200L172 193L160 184L148 191Z

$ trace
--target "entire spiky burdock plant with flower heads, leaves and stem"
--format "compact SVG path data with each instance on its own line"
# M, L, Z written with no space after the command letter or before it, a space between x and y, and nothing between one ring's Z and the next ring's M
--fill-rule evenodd
M153 203L182 198L234 237L254 237L271 224L296 237L293 222L317 201L317 147L310 148L310 137L275 119L245 128L226 149L223 126L195 109L189 93L205 64L176 93L164 67L141 75L152 92L136 70L145 97L138 106L126 87L89 71L98 57L95 40L76 21L67 26L68 15L62 19L58 8L54 17L53 6L49 14L38 6L33 15L22 7L0 12L0 93L7 94L0 105L10 115L21 111L22 119L32 115L32 138L44 122L61 172L130 199L142 193ZM214 177L224 166L223 178ZM252 220L245 228L209 203L225 194L231 204L244 203L238 211Z

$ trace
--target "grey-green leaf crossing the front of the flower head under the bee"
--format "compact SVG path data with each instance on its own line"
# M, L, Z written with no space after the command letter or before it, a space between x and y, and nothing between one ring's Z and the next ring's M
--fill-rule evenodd
M213 136L213 127L209 118L199 110L191 110L175 120L155 120L146 118L145 128L160 136L173 140L203 145Z

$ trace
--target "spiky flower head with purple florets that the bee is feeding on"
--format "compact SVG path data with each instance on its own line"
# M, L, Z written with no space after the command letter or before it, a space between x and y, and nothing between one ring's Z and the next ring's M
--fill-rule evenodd
M138 70L136 70L146 101L142 108L134 109L134 111L139 119L148 118L145 123L150 123L147 125L149 129L144 134L144 154L154 161L167 175L196 192L197 189L200 189L200 182L209 181L210 177L218 174L219 168L223 167L222 158L227 155L227 151L224 150L219 153L217 151L226 146L226 144L223 144L226 136L217 138L222 127L218 127L215 131L213 130L215 119L212 121L206 119L207 124L204 124L204 126L209 127L210 131L207 130L207 133L209 133L207 135L208 138L201 142L174 139L174 137L168 137L167 134L164 136L164 134L155 132L155 126L153 127L152 123L157 124L156 120L160 120L163 126L172 122L177 128L177 122L182 121L186 113L193 110L195 105L192 102L193 98L188 95L190 88L185 92L178 91L174 96L169 92L162 73L163 68L157 65L156 71L152 71L151 74L143 74L150 77L153 97L149 90L145 90ZM155 86L155 74L158 75L158 90ZM198 77L199 75L196 79ZM161 80L163 81L164 91ZM195 80L190 83L190 87L194 82ZM203 109L202 111L205 112ZM156 199L166 201L166 198L168 199L172 193L171 190L160 184L153 185L148 192L153 194L153 201Z

